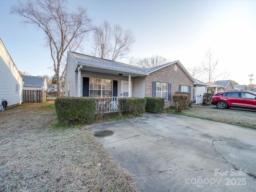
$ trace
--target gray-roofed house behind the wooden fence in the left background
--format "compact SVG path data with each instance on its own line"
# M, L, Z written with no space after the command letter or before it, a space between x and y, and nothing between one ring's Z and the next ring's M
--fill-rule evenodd
M46 78L38 76L26 76L22 75L24 80L24 90L47 90Z

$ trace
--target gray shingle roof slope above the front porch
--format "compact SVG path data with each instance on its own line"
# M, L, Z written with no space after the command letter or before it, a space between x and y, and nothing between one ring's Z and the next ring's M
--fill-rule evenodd
M107 59L101 59L89 55L84 55L75 52L69 52L80 64L90 64L91 66L95 67L102 67L102 68L109 68L109 69L116 69L116 70L123 70L127 72L134 72L140 74L146 74L145 68L124 64L121 62L116 62Z

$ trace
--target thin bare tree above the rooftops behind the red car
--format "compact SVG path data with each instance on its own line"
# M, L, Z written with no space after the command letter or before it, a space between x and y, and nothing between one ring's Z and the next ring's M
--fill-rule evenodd
M214 60L213 52L211 48L205 52L205 58L202 61L202 69L204 76L206 77L205 80L208 82L215 81L216 78L221 78L224 80L229 76L227 70L223 70L221 72L218 71L218 59Z

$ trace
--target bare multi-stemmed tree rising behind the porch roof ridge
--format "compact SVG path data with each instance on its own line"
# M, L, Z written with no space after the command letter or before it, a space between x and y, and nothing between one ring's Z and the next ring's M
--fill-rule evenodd
M104 21L101 26L94 27L92 55L115 61L130 53L135 41L131 30L123 30L119 25L112 29Z

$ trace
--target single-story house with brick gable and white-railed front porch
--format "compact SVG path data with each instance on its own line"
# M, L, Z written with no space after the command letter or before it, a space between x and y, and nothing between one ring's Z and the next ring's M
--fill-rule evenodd
M177 91L193 96L196 83L179 61L146 69L75 52L68 52L65 80L66 96L162 97L165 108Z

